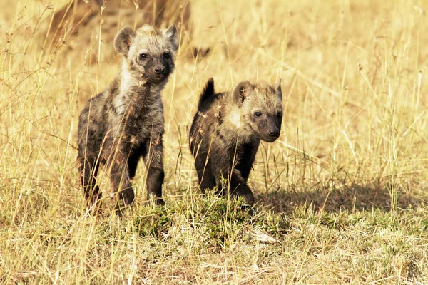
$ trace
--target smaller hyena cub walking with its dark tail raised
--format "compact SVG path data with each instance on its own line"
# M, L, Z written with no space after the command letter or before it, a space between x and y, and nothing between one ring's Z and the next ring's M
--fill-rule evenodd
M275 141L281 120L280 82L274 88L243 81L232 93L215 93L211 78L190 128L190 150L202 192L217 187L223 195L230 192L254 202L248 175L260 140Z

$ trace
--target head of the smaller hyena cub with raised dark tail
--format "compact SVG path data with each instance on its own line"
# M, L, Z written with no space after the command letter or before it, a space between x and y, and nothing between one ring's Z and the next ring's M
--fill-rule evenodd
M260 140L273 142L280 136L282 122L281 81L277 86L253 85L250 81L238 83L232 92L235 104L240 107L243 128Z

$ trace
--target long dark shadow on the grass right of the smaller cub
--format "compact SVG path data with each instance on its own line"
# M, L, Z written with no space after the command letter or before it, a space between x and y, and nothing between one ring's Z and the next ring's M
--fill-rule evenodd
M399 209L409 209L428 204L428 191L419 191L421 195L412 195L397 191ZM275 212L293 212L295 207L306 205L314 211L354 212L371 209L381 209L389 212L391 197L386 187L369 187L352 185L342 189L317 188L315 190L280 190L259 194L258 201L267 207L273 207Z

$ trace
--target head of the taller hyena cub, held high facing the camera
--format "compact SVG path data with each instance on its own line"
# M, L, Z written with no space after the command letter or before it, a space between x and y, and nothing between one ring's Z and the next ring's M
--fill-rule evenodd
M128 71L133 76L151 83L161 83L174 69L178 41L174 24L167 29L144 25L136 31L125 27L118 31L114 48L126 58Z

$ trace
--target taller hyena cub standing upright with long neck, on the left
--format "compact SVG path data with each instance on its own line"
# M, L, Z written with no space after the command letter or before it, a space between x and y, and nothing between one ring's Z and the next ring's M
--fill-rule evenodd
M114 48L123 55L121 72L106 91L88 101L80 115L78 161L88 205L101 197L96 176L99 166L106 165L121 214L133 202L131 180L141 157L148 169L148 195L164 204L160 93L174 69L177 29L175 25L168 29L146 25L136 31L126 27L116 35Z

